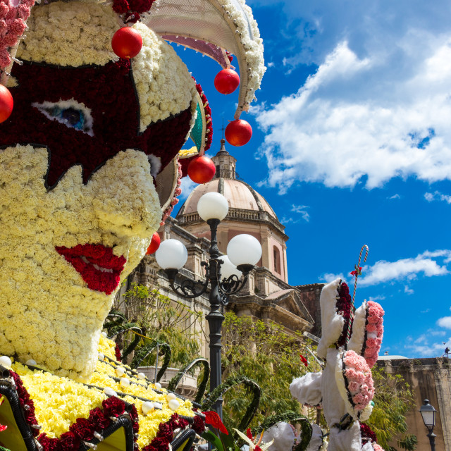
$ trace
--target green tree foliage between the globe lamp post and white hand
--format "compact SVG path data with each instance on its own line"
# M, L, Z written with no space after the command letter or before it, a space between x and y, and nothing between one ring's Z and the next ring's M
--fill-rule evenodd
M271 414L288 410L299 412L299 403L290 393L290 383L306 371L319 371L319 365L306 346L306 339L300 333L287 333L280 324L226 313L223 323L223 380L228 376L242 375L260 385L261 402L252 426ZM309 359L308 369L302 364L299 354ZM226 393L224 419L229 427L237 427L249 402L251 400L242 388Z

